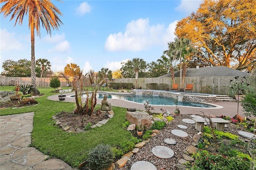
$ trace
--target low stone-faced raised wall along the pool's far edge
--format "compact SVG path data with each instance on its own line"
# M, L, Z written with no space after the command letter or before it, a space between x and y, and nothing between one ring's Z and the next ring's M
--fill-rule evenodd
M132 95L153 95L163 96L178 99L179 96L184 96L182 101L190 101L196 103L214 103L216 102L216 95L198 95L193 93L172 93L167 91L153 91L153 90L130 90Z

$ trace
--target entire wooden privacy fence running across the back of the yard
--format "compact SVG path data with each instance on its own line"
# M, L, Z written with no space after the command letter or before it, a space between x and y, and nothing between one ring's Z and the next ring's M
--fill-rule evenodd
M185 77L185 84L193 84L193 92L210 93L218 95L228 95L230 80L235 76L216 76L216 77ZM50 87L50 77L39 78L36 77L37 87ZM247 83L250 84L256 91L256 76L246 76ZM61 87L68 86L68 82L64 78L59 78ZM19 81L21 85L31 84L30 77L0 77L0 85L15 85ZM109 83L133 83L135 85L135 78L127 79L109 79ZM180 88L180 77L175 77L174 82L171 77L154 77L154 78L138 78L138 87L148 89L147 84L167 84L168 88L172 89L173 83L178 83ZM86 83L84 83L86 86Z

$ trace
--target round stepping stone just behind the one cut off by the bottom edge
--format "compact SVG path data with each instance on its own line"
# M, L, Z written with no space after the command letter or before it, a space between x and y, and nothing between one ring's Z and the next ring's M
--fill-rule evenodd
M152 148L152 153L154 156L161 159L172 158L172 156L174 156L174 152L166 146L155 146ZM146 170L146 168L144 168L144 170Z

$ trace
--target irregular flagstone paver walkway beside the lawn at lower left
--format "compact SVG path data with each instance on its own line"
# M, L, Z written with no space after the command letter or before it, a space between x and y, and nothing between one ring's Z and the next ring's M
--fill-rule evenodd
M0 170L76 170L31 144L34 112L0 117Z

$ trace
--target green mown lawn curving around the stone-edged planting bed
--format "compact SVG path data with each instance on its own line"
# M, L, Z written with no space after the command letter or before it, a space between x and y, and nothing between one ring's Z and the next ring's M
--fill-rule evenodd
M65 87L63 89L68 89ZM1 91L12 91L14 87L1 86ZM37 148L44 154L51 157L60 158L72 167L78 167L87 158L88 152L98 144L109 144L118 146L122 141L128 140L132 134L122 128L125 121L126 109L112 107L115 116L102 127L96 127L82 133L67 133L54 125L52 116L61 111L72 111L75 103L51 101L47 99L52 88L38 87L44 96L36 98L39 105L18 109L2 109L0 116L13 115L19 113L34 112L33 131L31 134L31 146ZM100 105L97 105L100 107Z

